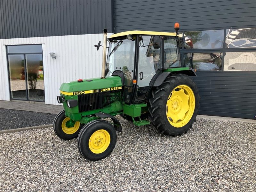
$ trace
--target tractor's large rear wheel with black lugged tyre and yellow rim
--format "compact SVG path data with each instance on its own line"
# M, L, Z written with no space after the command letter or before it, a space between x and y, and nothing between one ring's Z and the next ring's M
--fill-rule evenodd
M182 92L177 93L178 91L183 91L184 94ZM185 98L183 103L182 99L179 101L176 99L175 94L180 94L182 98ZM177 96L177 98L180 96ZM186 133L196 121L196 116L200 107L199 100L199 91L197 90L197 86L193 79L187 75L174 74L171 77L166 78L162 85L152 90L152 98L149 99L150 120L156 129L164 135L177 136L184 132ZM186 102L188 105L186 105ZM188 111L184 112L186 110ZM176 115L174 115L174 112L176 112ZM172 118L170 117L170 113L172 114ZM169 117L167 117L167 114ZM183 119L180 118L182 115L184 115L184 118L182 117ZM174 117L176 118L175 121L173 120Z

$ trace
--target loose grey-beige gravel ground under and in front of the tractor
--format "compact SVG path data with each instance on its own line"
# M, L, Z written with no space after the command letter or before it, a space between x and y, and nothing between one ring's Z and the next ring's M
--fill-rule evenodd
M0 135L0 191L255 191L256 124L198 119L161 135L121 119L107 158L82 158L52 128Z

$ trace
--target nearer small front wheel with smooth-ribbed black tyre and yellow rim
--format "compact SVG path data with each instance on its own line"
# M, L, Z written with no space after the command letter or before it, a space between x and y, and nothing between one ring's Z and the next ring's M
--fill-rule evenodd
M103 135L99 136L102 138L98 139L97 134ZM100 145L99 148L96 145ZM105 120L94 120L85 124L77 138L77 148L80 154L90 161L106 158L110 155L115 146L116 130L112 124Z

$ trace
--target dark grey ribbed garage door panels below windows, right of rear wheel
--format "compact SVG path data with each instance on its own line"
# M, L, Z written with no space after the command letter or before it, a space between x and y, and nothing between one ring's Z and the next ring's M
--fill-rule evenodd
M256 72L197 71L201 115L254 119Z

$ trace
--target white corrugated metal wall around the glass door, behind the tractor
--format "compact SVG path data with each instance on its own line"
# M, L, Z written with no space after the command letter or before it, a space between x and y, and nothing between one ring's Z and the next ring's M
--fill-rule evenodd
M58 104L62 83L100 77L102 47L96 51L94 44L102 40L103 34L0 39L0 100L10 100L6 45L42 44L45 104ZM56 53L56 60L49 52Z

